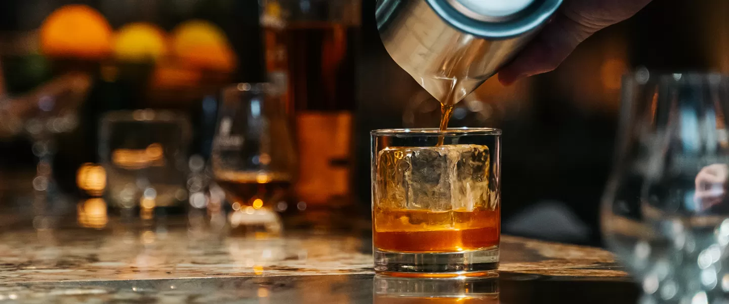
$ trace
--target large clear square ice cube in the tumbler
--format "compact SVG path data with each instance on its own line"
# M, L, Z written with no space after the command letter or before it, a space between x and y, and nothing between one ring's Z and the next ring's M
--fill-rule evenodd
M472 211L488 207L488 147L389 147L377 157L381 208Z

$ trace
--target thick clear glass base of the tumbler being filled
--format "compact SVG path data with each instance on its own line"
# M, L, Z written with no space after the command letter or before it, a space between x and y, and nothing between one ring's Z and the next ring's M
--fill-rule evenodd
M472 252L397 253L375 249L375 270L394 273L464 274L499 268L499 247Z

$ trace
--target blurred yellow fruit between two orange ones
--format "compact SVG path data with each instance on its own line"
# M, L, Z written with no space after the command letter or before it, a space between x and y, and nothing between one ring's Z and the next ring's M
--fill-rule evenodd
M153 24L129 23L114 39L114 57L122 61L158 61L167 53L165 32Z

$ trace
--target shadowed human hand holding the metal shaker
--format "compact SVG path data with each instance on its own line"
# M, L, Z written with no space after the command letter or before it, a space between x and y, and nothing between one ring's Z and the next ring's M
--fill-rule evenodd
M635 15L651 0L564 0L557 15L499 71L499 82L552 71L596 31Z

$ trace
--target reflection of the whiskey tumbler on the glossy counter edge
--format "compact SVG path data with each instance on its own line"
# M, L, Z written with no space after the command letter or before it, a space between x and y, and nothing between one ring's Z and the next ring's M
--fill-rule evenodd
M398 278L375 276L375 304L499 303L499 275L479 278Z

